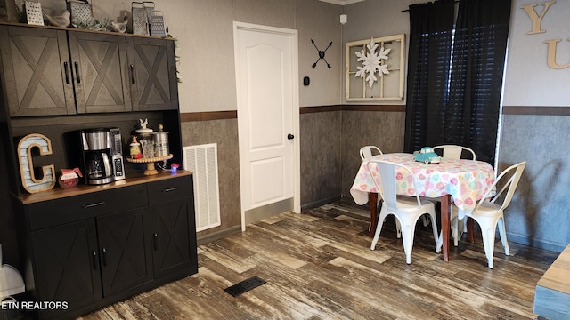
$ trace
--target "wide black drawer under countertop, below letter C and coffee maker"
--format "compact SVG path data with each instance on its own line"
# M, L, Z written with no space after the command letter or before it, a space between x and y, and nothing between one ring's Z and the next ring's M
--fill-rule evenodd
M147 205L144 185L69 196L28 204L29 228L30 230L48 228Z

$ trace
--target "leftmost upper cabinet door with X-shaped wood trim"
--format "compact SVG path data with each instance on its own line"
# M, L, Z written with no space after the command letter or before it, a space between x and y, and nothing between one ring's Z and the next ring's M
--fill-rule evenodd
M0 52L10 116L76 113L64 30L0 26Z

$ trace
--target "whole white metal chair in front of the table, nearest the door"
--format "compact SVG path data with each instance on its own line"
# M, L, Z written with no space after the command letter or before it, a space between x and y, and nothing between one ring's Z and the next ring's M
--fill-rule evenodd
M374 250L378 239L380 236L380 231L382 230L382 225L388 214L394 214L396 222L399 222L402 230L402 240L403 240L403 252L406 255L406 263L411 263L411 249L413 246L413 237L416 229L416 223L424 214L428 214L431 218L431 225L434 232L434 241L437 244L437 225L436 225L436 208L433 202L428 200L422 200L418 195L415 196L397 196L396 188L397 181L395 178L395 170L398 167L402 167L403 170L410 172L407 167L394 164L387 161L371 160L366 164L366 169L371 174L371 177L375 177L372 174L374 166L378 168L379 178L381 180L381 186L377 179L374 180L374 184L379 190L379 195L382 197L383 204L379 215L379 224L376 227L376 232L374 238L372 239L371 250ZM412 180L411 183L414 186L414 190L417 190L416 181Z

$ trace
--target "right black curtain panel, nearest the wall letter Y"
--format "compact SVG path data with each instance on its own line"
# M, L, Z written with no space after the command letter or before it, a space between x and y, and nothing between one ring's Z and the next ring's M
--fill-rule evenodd
M453 42L444 143L494 163L511 0L461 0Z

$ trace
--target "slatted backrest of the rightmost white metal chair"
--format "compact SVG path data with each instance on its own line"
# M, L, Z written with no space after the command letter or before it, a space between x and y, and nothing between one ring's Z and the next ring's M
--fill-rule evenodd
M518 164L513 164L509 166L509 168L503 170L501 174L495 179L493 186L489 188L485 196L479 201L477 204L475 211L477 208L485 202L485 199L492 196L493 190L496 190L497 186L501 186L501 190L497 191L493 199L490 202L495 203L500 197L502 198L501 209L504 210L506 207L509 206L510 200L512 199L513 195L515 194L515 190L517 189L518 180L523 175L523 171L525 170L526 161L523 161ZM507 191L507 194L502 196L502 194Z

